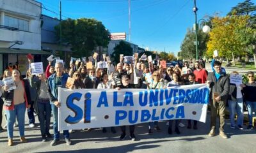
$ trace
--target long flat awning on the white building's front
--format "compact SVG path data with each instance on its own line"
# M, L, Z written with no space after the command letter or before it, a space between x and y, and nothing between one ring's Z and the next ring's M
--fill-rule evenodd
M40 54L40 55L51 55L51 52L45 52L45 51L42 51L42 50L0 48L0 54Z

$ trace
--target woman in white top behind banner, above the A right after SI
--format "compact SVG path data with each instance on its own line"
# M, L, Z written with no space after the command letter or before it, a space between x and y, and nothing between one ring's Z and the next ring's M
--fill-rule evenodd
M112 85L108 81L108 74L107 73L103 73L100 76L100 83L98 84L97 89L112 89ZM106 133L107 129L106 128L102 128L102 132ZM114 127L111 127L111 132L112 133L116 133L116 129Z

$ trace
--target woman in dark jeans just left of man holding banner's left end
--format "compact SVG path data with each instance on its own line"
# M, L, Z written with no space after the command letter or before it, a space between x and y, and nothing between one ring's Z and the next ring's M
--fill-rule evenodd
M51 138L50 123L51 123L51 104L47 96L47 78L44 73L38 75L39 80L33 84L36 88L35 108L38 112L38 120L40 122L40 131L42 142L46 142L46 136Z

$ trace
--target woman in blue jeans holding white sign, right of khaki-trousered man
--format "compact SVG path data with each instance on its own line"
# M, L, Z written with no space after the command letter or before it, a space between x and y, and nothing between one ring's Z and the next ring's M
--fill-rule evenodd
M237 71L232 72L233 75L239 75ZM243 94L241 85L230 83L228 95L228 107L230 116L230 128L243 129ZM237 121L235 122L235 114L237 113Z

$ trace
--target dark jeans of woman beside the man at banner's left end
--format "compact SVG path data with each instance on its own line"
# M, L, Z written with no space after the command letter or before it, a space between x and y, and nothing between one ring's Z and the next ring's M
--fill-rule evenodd
M51 104L48 103L37 103L38 106L38 120L40 122L41 135L45 136L49 133L50 122L51 122Z

